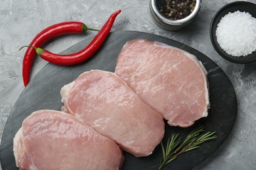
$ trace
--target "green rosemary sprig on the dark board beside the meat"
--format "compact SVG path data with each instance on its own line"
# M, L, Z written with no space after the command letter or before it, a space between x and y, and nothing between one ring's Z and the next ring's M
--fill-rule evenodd
M180 154L199 148L200 144L217 138L215 131L209 131L207 133L203 133L203 131L203 126L196 127L188 134L182 144L180 144L181 137L179 137L179 134L177 133L173 133L169 137L166 148L164 148L163 143L161 142L163 158L161 159L160 167L158 169L162 169L163 167L165 167L165 165L175 160L175 158L177 158L177 156L179 156Z

